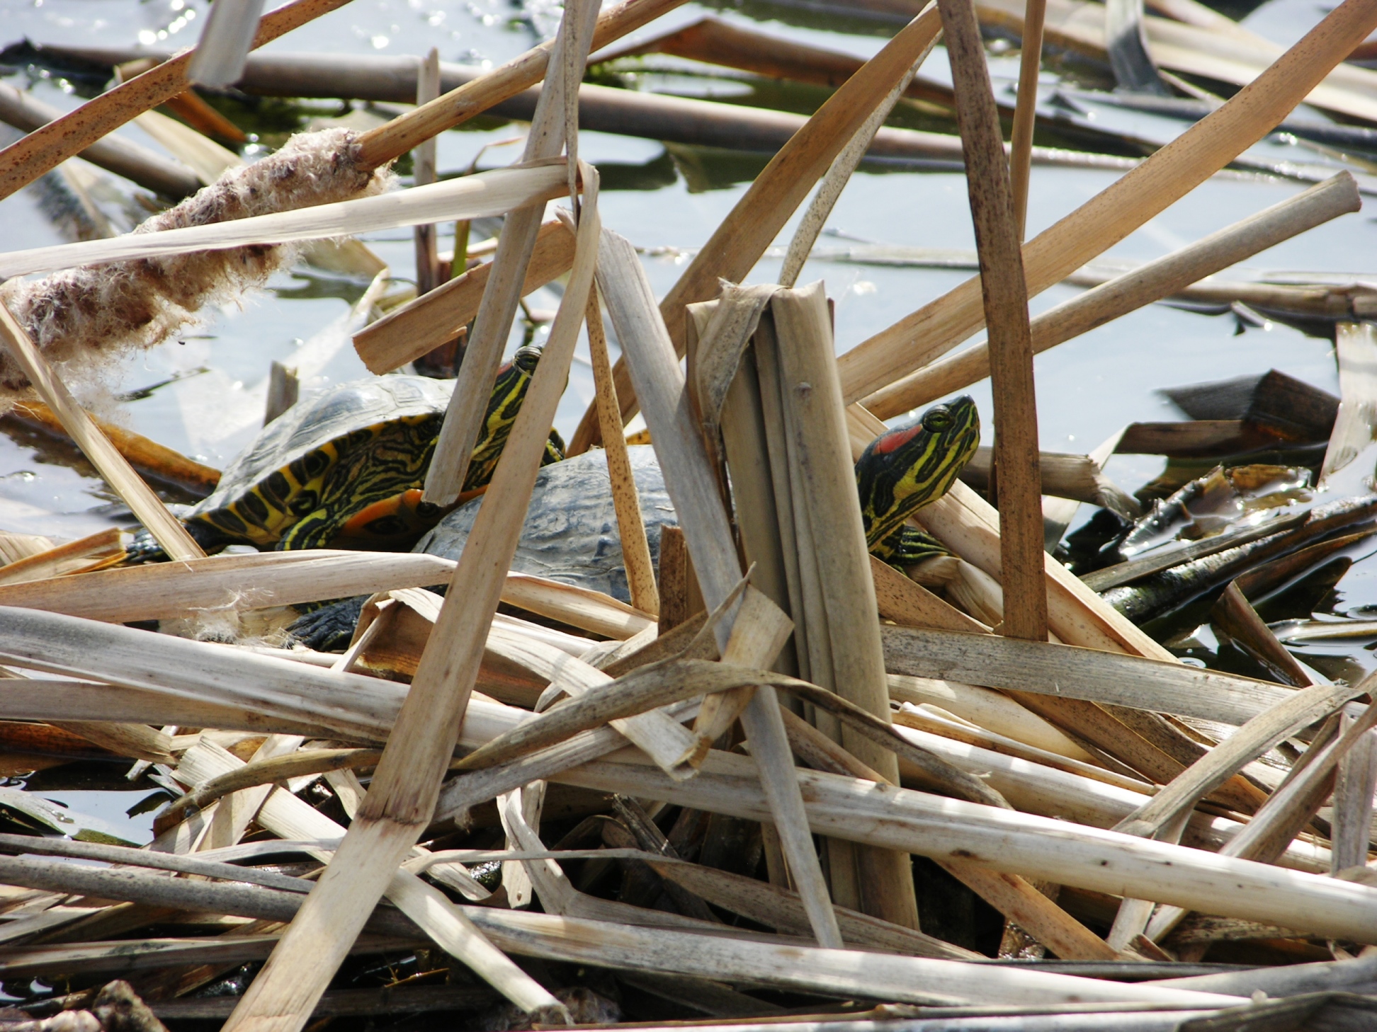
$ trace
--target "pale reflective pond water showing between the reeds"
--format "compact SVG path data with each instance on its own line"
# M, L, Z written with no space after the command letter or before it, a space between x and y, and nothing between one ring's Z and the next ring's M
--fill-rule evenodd
M28 37L36 43L180 47L194 41L207 8L204 0L6 3L0 4L0 44ZM894 30L880 22L760 3L688 3L653 30L662 32L706 14L858 56L873 54ZM1322 15L1321 6L1308 0L1274 0L1252 11L1245 23L1286 44ZM496 65L552 33L558 17L559 8L547 0L533 0L525 7L508 0L355 0L270 44L269 50L398 55L421 54L438 47L445 61ZM991 44L990 51L997 89L1007 91L1018 73L1018 52L1004 41ZM1048 87L1063 81L1059 76L1073 76L1066 80L1073 84L1108 84L1104 69L1084 61L1049 61L1047 67L1044 84ZM947 76L940 47L924 72L938 78ZM657 59L650 70L621 65L618 74L622 84L631 88L775 103L793 110L811 110L825 96L811 88L779 88L739 76L706 74L704 66L668 59ZM34 78L32 69L18 69L8 81L26 85ZM41 99L62 107L80 102L73 84L56 76L36 78L33 89ZM387 107L376 110L383 117L392 113ZM340 105L329 102L297 111L303 124L310 117L332 118L343 113ZM361 117L361 113L355 111L351 117ZM932 114L909 113L905 118L905 124L921 124L923 128L953 128L950 121ZM1183 127L1184 122L1147 117L1135 122L1136 129L1162 139L1169 139ZM489 121L443 133L439 139L441 172L461 171L475 158L481 168L505 164L518 151L509 142L521 136L522 128ZM263 146L281 139L267 129L263 132ZM158 149L154 140L132 125L121 129L121 135ZM1271 146L1268 153L1275 158L1279 144ZM1296 161L1341 164L1332 154L1310 147L1290 150L1293 153L1287 157ZM658 293L669 289L691 250L726 217L745 191L746 180L766 160L763 155L742 157L687 146L666 147L651 140L596 132L581 135L580 154L606 169L603 223L646 250L644 264ZM1355 172L1370 171L1366 162L1356 160L1352 168ZM1117 175L1095 169L1034 168L1029 235L1102 191ZM129 193L120 180L110 179L110 183L117 191ZM1107 253L1137 260L1157 257L1303 189L1304 183L1275 178L1219 176ZM1370 211L1336 219L1256 256L1248 264L1271 271L1370 270L1377 264L1377 227L1373 222ZM793 223L781 234L781 248L788 244L792 231ZM877 244L972 249L964 176L952 171L865 165L841 195L829 220L829 231L847 239ZM7 249L19 249L63 242L65 237L43 213L41 197L30 189L0 201L0 239ZM388 263L395 277L405 279L413 275L409 233L373 234L366 237L366 242ZM823 238L822 242L829 241ZM441 249L448 246L442 231ZM779 260L778 255L766 257L749 279L772 281ZM964 271L814 259L801 279L825 279L829 294L836 300L837 350L845 351L967 277ZM307 365L314 373L303 383L306 388L364 374L346 330L350 305L365 286L364 282L332 278L306 267L278 275L267 290L207 312L204 326L127 362L112 374L103 391L85 400L140 433L223 466L262 421L262 389L271 361L291 366L308 356ZM1033 299L1033 310L1042 311L1075 293L1073 288L1055 286ZM556 304L558 296L549 290L532 299L533 308L554 308ZM514 330L511 347L519 343L521 327ZM1278 369L1333 394L1338 391L1334 350L1329 340L1308 337L1279 323L1257 326L1241 322L1232 314L1212 316L1165 305L1151 305L1063 344L1038 356L1036 367L1041 446L1056 451L1085 453L1132 421L1179 418L1180 414L1159 394L1168 387ZM570 389L556 421L563 433L573 431L592 394L592 376L585 345L581 344ZM986 416L989 433L987 381L976 385L972 394ZM1159 458L1118 455L1106 472L1132 491L1161 469ZM1084 522L1089 512L1088 506L1082 506L1077 522ZM66 449L36 442L32 436L0 435L0 528L74 538L127 519L128 513L91 469L73 461ZM1355 557L1360 559L1370 550L1370 546L1363 546ZM1358 561L1338 583L1337 594L1323 600L1322 608L1340 612L1369 604L1377 604L1377 561ZM1351 656L1366 670L1377 666L1366 644L1344 643L1330 648L1330 643L1325 643L1325 649ZM132 801L132 797L125 798Z

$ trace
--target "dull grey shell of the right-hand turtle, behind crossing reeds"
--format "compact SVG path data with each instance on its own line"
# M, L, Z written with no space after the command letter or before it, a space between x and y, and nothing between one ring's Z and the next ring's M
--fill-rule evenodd
M636 444L628 453L650 557L658 566L660 531L665 526L679 526L679 520L665 491L655 450L649 444ZM457 560L482 502L482 498L475 498L454 509L413 550ZM600 449L544 466L536 475L511 568L631 601L617 513L611 504L611 479Z

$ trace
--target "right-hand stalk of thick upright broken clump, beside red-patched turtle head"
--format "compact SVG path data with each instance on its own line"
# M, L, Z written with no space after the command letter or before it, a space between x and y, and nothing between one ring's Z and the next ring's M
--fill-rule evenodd
M789 418L790 479L808 509L822 603L821 634L829 638L830 669L812 669L811 681L890 722L874 585L861 509L855 504L855 466L845 410L836 377L832 319L822 283L778 290L770 303L778 336L781 400ZM811 633L811 629L810 629ZM841 742L862 761L898 783L898 760L874 742L843 729ZM861 910L905 927L918 926L910 861L902 853L858 849Z

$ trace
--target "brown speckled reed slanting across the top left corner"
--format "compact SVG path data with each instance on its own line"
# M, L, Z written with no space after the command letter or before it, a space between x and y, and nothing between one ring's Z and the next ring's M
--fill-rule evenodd
M270 12L259 23L253 47L306 25L348 0L296 0ZM142 76L121 83L107 94L88 100L74 111L48 122L22 140L0 150L0 198L28 186L67 158L81 153L102 136L186 91L186 67L191 51L167 61Z

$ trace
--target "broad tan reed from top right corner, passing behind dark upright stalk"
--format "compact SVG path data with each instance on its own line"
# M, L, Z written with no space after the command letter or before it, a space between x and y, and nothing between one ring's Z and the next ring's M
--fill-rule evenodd
M1223 107L1029 241L1023 261L1029 292L1059 282L1237 158L1373 28L1377 6L1344 0ZM979 278L968 279L841 355L843 396L848 402L865 398L971 336L983 322L980 290Z

